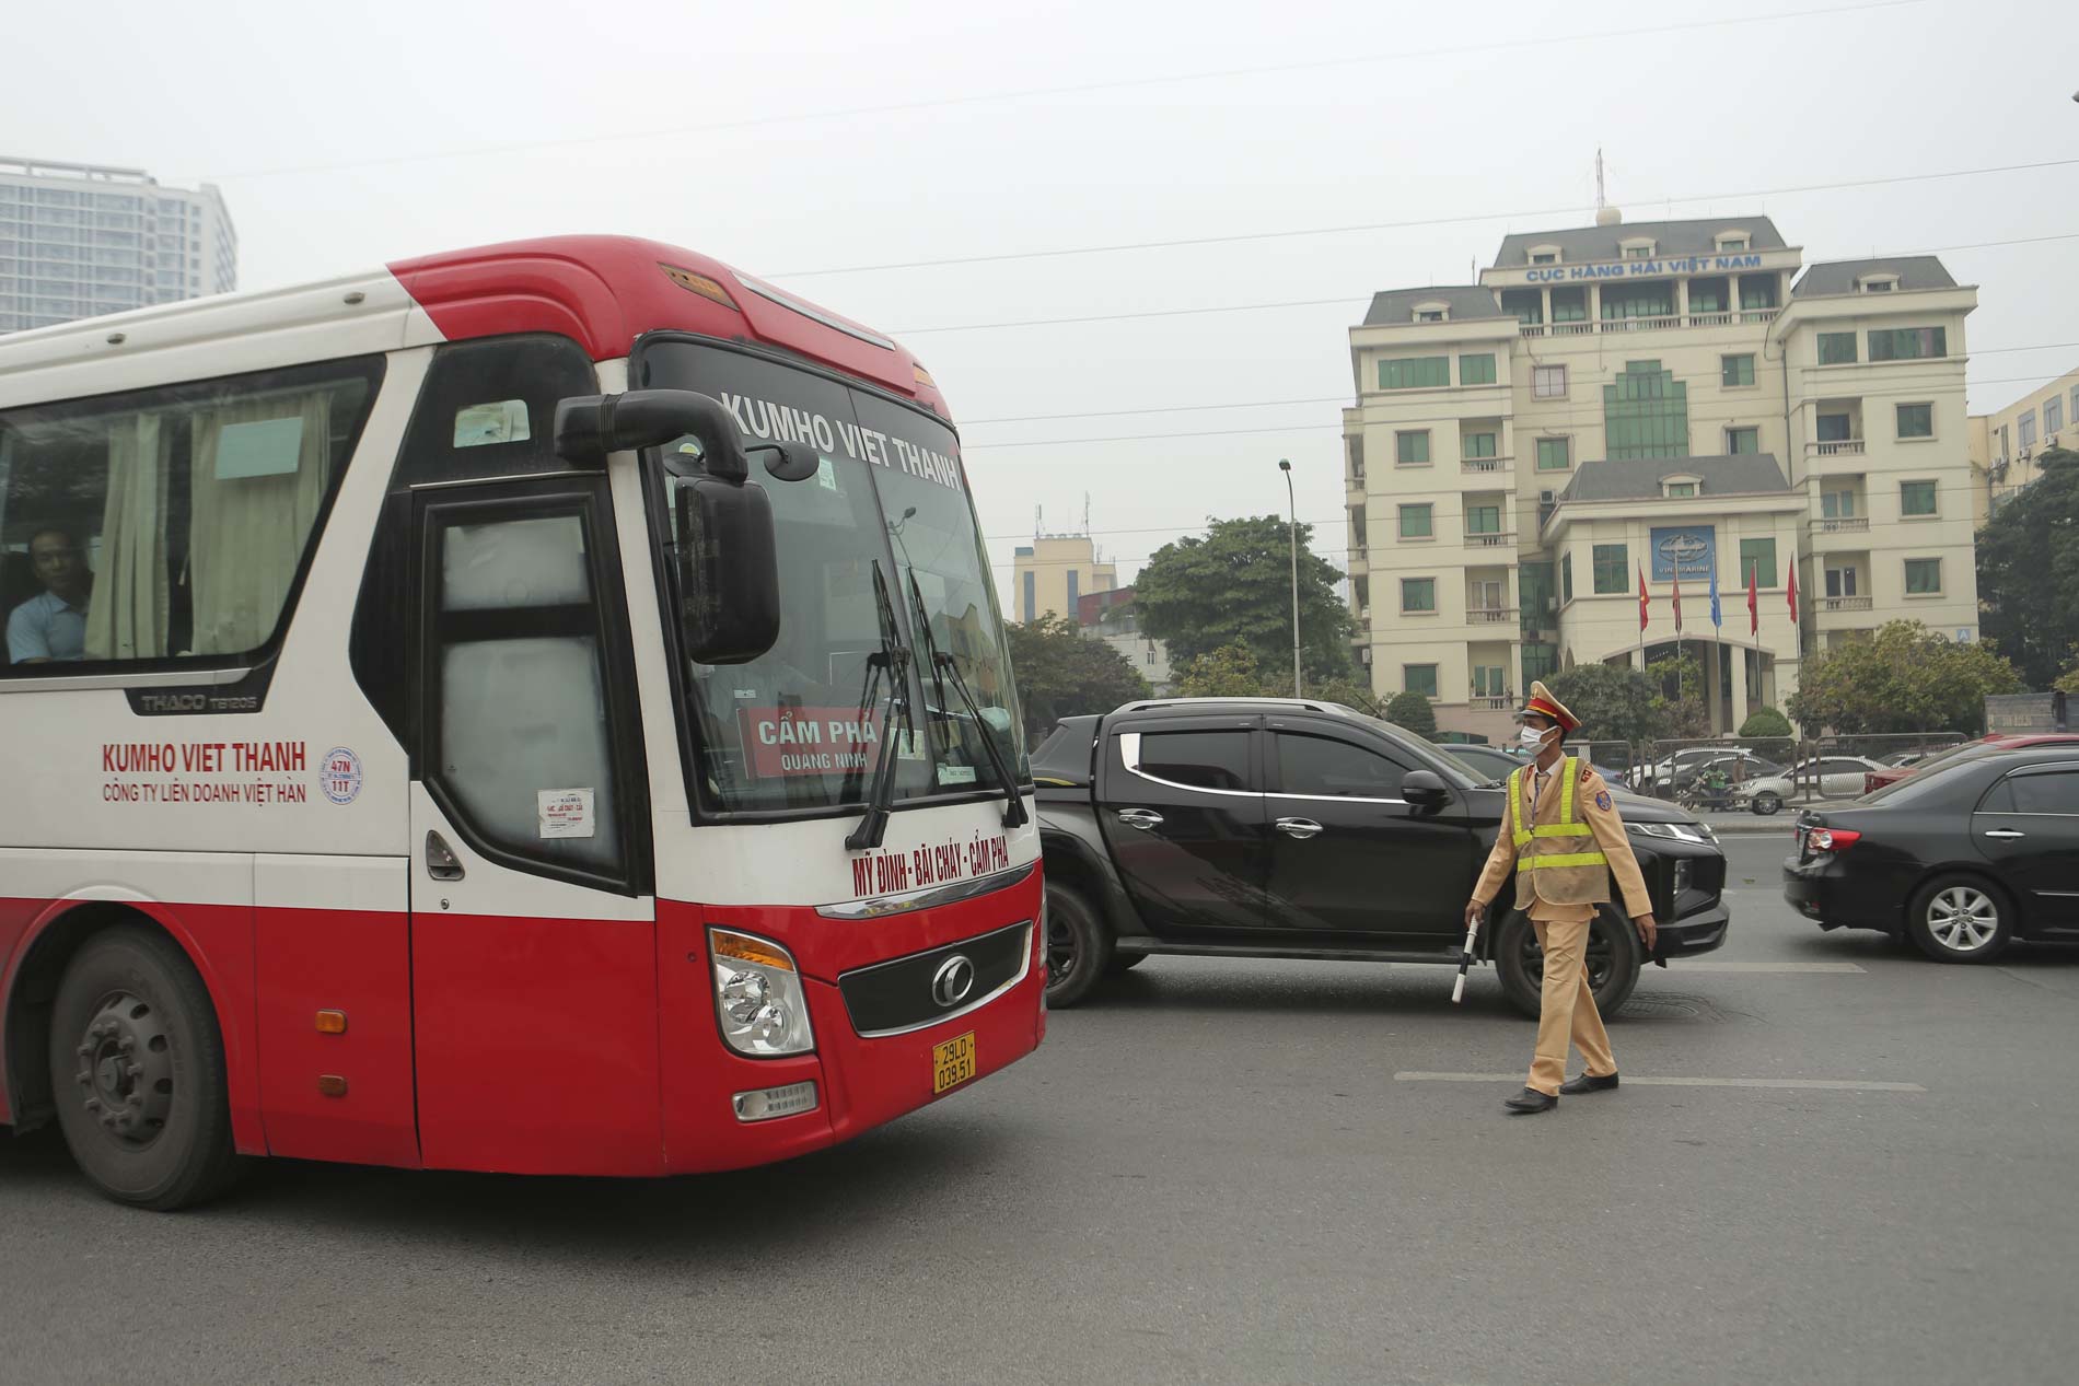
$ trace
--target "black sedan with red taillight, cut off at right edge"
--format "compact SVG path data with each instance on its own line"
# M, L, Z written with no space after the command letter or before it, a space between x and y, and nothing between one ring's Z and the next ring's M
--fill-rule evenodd
M1936 962L2079 941L2079 750L1948 761L1805 812L1784 900L1821 929L1877 929Z

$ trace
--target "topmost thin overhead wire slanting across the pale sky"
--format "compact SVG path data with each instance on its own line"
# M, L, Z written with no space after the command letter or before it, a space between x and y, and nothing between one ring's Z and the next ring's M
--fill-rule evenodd
M1723 19L1692 19L1684 23L1669 25L1630 25L1622 29L1584 29L1574 33L1549 33L1536 37L1514 37L1514 39L1484 39L1480 44L1451 44L1443 48L1403 48L1397 52L1376 52L1376 54L1345 54L1339 58L1306 58L1299 62L1266 62L1256 66L1227 66L1227 69L1206 69L1198 73L1164 73L1152 77L1116 77L1106 81L1077 81L1054 87L1012 87L1008 91L973 91L969 96L933 96L913 102L879 102L871 106L830 106L823 110L790 110L769 116L738 116L732 121L701 121L694 125L672 125L672 127L640 127L609 131L601 135L561 135L551 139L518 139L495 145L474 145L468 150L426 150L420 154L389 154L380 158L353 158L335 160L328 164L281 164L274 168L247 168L243 172L216 172L208 175L214 183L229 183L235 179L277 179L295 172L343 172L349 168L383 168L391 164L426 164L453 158L486 158L495 154L524 154L530 150L557 150L557 148L578 148L590 143L615 143L626 139L669 139L676 135L703 135L715 131L740 131L757 129L765 125L809 125L819 121L850 121L857 116L888 116L888 114L909 114L913 110L938 110L946 106L988 106L988 104L1008 104L1048 96L1091 96L1098 91L1127 91L1135 87L1162 87L1179 85L1189 81L1225 81L1233 77L1277 77L1289 73L1316 73L1322 69L1339 66L1372 66L1378 62L1410 62L1426 58L1457 58L1482 52L1505 52L1522 48L1545 48L1551 44L1599 44L1607 39L1634 39L1634 37L1661 37L1667 33L1694 33L1699 29L1734 29L1769 25L1792 19L1825 19L1830 15L1861 15L1867 10L1894 10L1915 4L1927 4L1927 0L1869 0L1867 4L1832 4L1805 10L1778 10L1773 15L1734 15Z

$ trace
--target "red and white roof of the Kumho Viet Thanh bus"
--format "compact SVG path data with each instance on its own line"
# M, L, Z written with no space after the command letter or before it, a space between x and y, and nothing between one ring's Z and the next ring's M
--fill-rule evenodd
M274 337L289 357L277 355L272 364L283 364L470 337L559 332L605 362L628 355L636 337L655 330L773 347L946 414L931 376L894 339L709 256L605 235L507 241L295 289L187 299L8 332L0 337L0 405L54 397L56 380L44 372L60 366L121 355L131 366L121 376L133 376L141 353L210 343L220 349L241 337ZM218 370L239 368L218 359ZM64 395L102 389L121 384Z

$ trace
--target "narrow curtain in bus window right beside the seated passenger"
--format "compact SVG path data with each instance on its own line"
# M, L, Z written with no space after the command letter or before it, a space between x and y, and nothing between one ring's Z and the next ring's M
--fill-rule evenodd
M166 655L166 486L173 436L162 414L121 414L108 420L108 497L102 505L94 596L87 601L87 659Z

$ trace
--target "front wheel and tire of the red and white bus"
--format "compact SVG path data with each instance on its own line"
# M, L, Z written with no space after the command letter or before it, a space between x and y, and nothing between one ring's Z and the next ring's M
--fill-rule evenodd
M50 1091L79 1172L116 1203L189 1207L239 1170L216 1008L158 929L116 925L67 964Z

